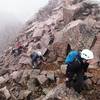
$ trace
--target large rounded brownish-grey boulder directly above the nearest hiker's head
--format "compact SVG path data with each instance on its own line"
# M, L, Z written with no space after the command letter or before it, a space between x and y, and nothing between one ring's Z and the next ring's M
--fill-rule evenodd
M72 49L89 48L95 38L82 20L76 20L69 23L63 30L63 39L67 41Z

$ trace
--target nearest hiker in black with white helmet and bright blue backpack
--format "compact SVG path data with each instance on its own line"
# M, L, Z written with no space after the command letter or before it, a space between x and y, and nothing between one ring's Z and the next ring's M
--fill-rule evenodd
M65 64L68 65L66 70L68 84L66 85L68 85L69 88L74 87L77 92L81 92L84 73L87 72L88 65L93 58L93 52L88 49L83 49L82 52L71 51L68 54L65 59Z

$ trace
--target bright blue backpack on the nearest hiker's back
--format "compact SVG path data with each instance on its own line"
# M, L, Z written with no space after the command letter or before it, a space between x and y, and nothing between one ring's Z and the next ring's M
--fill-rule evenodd
M78 51L71 51L65 59L65 64L69 64L76 59L80 62L81 57L79 55L79 52Z

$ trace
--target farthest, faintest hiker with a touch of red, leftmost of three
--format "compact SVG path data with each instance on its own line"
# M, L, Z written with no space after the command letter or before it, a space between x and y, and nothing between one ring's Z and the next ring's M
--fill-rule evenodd
M15 48L12 49L12 53L14 55L14 57L20 55L22 53L22 49L23 49L23 46L21 45L20 42L17 42L16 45L15 45Z

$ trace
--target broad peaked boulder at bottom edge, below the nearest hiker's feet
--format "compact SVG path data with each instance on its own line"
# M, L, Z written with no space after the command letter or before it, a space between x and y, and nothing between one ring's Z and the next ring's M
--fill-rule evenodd
M81 95L77 96L77 93L73 89L66 88L65 84L59 84L43 98L43 100L85 100ZM66 98L66 99L62 99Z

